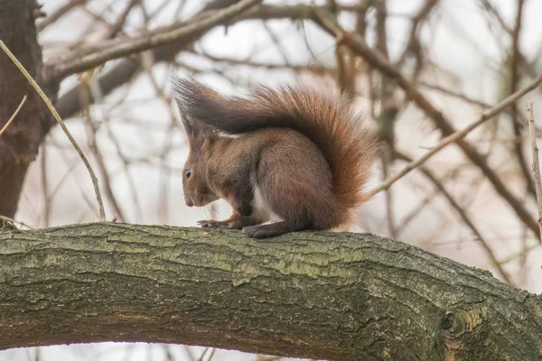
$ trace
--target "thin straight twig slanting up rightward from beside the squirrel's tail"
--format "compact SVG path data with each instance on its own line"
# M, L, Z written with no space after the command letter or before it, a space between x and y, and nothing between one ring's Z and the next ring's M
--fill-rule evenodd
M483 124L487 120L491 119L491 117L499 114L502 110L504 110L507 106L518 100L520 97L523 97L526 95L529 91L531 91L534 88L537 88L537 86L542 82L542 74L537 77L534 81L532 81L526 88L523 88L519 90L518 92L512 94L511 96L507 97L503 101L501 101L497 106L492 107L490 110L484 112L480 119L471 125L466 126L463 128L462 131L458 131L454 134L448 135L445 137L441 142L435 145L433 149L427 153L425 153L420 158L416 159L414 162L410 162L408 165L406 165L405 168L403 168L402 171L399 171L394 177L390 178L389 180L385 181L381 185L379 185L374 190L369 191L369 197L374 196L381 190L388 190L389 187L393 183L395 183L397 180L400 180L403 178L408 172L416 169L419 165L423 164L425 161L427 161L429 158L435 155L435 153L440 152L446 145L449 145L451 143L457 142L459 139L462 139L465 135L472 132L473 129L478 127L479 125Z

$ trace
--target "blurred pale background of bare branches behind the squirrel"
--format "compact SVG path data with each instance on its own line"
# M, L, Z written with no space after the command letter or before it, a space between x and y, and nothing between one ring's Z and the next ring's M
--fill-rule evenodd
M44 61L108 39L144 37L191 21L205 6L213 11L234 2L208 3L215 6L201 0L42 0L47 16L37 23ZM171 54L145 51L130 60L108 61L91 78L71 75L61 82L58 106L63 106L70 132L98 172L108 218L195 226L201 218L229 217L222 201L208 208L184 205L187 149L170 92L173 75L194 76L229 94L259 83L296 82L340 86L355 94L357 106L388 144L368 190L438 143L438 125L396 83L362 57L336 46L319 25L303 20L309 6L330 6L346 30L359 33L388 57L455 129L524 88L542 66L542 2L537 0L266 0L228 26L220 24L192 42L173 43ZM136 62L128 76L123 73L126 61ZM88 81L94 101L70 108L78 98L72 89L82 81ZM360 230L488 269L503 282L542 292L542 247L491 180L498 177L537 219L525 119L528 102L542 119L541 91L530 92L467 136L490 175L458 146L448 146L364 205ZM25 180L16 220L29 227L51 227L98 220L97 209L83 163L61 129L53 128ZM278 358L144 344L0 352L2 361L26 359Z

